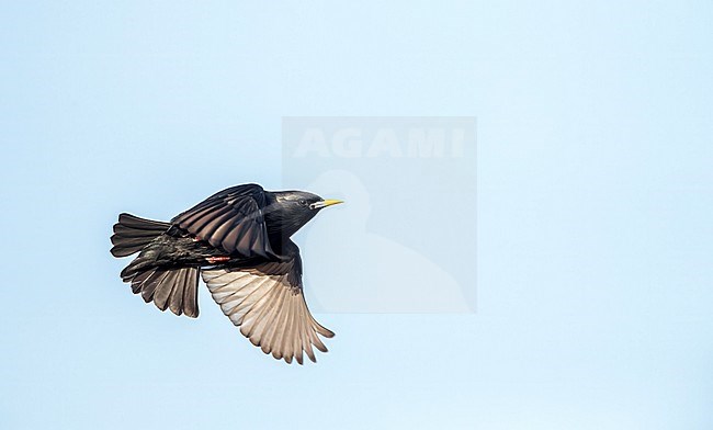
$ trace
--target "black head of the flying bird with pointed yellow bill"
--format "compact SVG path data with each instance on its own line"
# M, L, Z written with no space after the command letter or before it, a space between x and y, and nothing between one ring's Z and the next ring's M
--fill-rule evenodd
M281 231L284 237L294 235L322 208L343 203L305 191L275 191L270 193L269 200L269 210L265 211L268 231Z

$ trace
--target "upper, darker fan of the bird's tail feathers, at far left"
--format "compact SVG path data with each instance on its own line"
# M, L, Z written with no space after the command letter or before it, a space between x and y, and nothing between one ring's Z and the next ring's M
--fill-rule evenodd
M114 224L112 256L127 257L138 252L156 237L166 233L169 227L171 227L169 223L121 214L118 215L118 223Z

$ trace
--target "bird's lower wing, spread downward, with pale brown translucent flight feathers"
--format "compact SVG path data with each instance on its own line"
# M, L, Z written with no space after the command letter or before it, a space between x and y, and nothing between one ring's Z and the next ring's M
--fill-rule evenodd
M303 351L316 361L313 346L327 352L317 335L331 338L335 333L309 314L302 290L299 254L288 261L249 269L213 269L202 273L223 313L262 352L287 363L296 358L299 364Z

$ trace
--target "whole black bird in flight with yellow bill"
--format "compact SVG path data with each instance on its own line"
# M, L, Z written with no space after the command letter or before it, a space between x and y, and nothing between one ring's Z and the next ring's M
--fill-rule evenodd
M316 361L317 335L333 332L309 313L299 248L290 239L324 207L342 203L303 191L257 184L223 190L170 223L121 214L114 257L138 257L121 273L134 294L176 315L199 316L199 273L240 332L267 354L292 363L303 351Z

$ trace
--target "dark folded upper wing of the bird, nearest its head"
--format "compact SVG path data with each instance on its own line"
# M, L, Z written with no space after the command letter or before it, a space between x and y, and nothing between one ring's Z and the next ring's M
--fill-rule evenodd
M180 228L228 253L274 258L265 228L265 191L257 184L233 186L171 219Z

